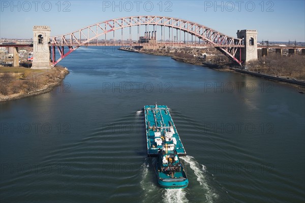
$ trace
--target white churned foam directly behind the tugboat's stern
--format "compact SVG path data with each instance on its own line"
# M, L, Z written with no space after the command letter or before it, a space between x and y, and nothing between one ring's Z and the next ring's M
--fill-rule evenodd
M184 189L165 189L163 194L164 203L187 203L187 192Z

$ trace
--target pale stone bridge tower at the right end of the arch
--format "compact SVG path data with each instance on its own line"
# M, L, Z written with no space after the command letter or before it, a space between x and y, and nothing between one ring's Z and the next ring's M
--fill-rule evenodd
M237 30L237 38L242 39L241 61L244 63L250 60L257 60L257 31L254 29Z

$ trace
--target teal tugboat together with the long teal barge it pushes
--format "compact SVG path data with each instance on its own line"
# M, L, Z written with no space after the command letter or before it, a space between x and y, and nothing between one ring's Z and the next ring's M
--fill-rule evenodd
M158 184L164 188L186 188L189 184L179 156L186 151L165 105L144 106L147 155L158 157Z

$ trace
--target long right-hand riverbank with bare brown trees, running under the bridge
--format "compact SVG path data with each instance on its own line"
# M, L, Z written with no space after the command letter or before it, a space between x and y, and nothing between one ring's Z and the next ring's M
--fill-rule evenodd
M125 49L120 49L125 50ZM130 49L129 51L134 51L133 49ZM254 77L262 77L267 80L277 81L279 83L288 84L290 86L293 86L297 88L300 92L304 92L304 77L299 77L299 79L290 78L289 73L286 73L283 71L284 76L286 77L273 77L272 75L275 75L272 71L266 71L263 69L264 63L261 61L261 57L259 57L259 60L253 64L249 64L248 71L242 71L239 66L236 66L236 69L234 69L234 64L228 59L224 58L225 56L223 54L218 54L214 50L210 49L197 49L197 48L163 48L163 49L141 49L136 50L134 52L139 53L145 53L145 54L151 54L151 55L159 55L159 56L170 56L173 60L179 61L179 62L185 62L185 63L191 63L194 65L202 65L205 67L209 67L210 69L216 70L216 71L222 71L222 72L232 72L237 74L246 74L251 75ZM294 56L296 59L300 59L303 56ZM282 58L282 60L285 59L287 61L294 60L294 58ZM302 58L301 58L302 59ZM296 60L297 61L297 60ZM262 64L259 64L262 63ZM291 65L290 65L291 66ZM296 67L304 66L303 64L295 64ZM240 71L238 71L240 70ZM264 74L261 74L263 72ZM289 80L289 79L290 80ZM292 79L292 80L291 80Z

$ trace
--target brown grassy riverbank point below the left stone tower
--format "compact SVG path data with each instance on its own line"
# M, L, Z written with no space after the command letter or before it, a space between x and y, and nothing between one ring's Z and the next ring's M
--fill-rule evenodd
M48 70L32 70L22 67L0 68L0 101L34 96L53 90L60 85L69 71L56 66Z

